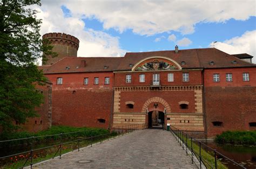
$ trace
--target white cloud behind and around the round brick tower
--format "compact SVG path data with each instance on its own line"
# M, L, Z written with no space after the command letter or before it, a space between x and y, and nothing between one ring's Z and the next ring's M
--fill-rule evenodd
M86 29L81 17L64 17L61 4L45 4L38 8L42 19L41 35L49 32L65 32L79 39L79 57L124 56L119 38L102 31Z

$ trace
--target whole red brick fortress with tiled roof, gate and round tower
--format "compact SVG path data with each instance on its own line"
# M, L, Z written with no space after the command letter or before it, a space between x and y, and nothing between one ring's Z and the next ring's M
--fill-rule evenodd
M250 55L176 46L124 57L77 57L75 50L67 53L77 51L77 38L43 38L52 39L59 53L39 66L53 83L52 124L107 129L164 123L207 137L256 129L256 65L248 62Z

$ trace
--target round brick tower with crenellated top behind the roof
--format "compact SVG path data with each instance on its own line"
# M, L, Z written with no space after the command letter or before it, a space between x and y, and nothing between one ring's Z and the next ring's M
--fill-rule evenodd
M66 33L46 33L43 39L49 39L53 45L53 52L58 53L57 57L48 59L43 65L51 65L64 57L77 57L77 50L79 48L79 40L75 36L67 35Z

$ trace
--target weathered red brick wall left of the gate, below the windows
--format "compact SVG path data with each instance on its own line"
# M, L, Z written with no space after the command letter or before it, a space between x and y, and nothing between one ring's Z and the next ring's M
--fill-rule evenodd
M52 124L102 127L110 124L113 92L110 89L52 91ZM105 119L99 123L98 119Z

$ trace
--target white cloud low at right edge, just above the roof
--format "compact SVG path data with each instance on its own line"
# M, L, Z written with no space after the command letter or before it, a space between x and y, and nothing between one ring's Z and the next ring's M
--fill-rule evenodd
M210 47L213 47L213 43ZM217 42L214 47L229 54L248 53L254 56L252 62L256 63L256 30L246 31L243 35L224 42Z

